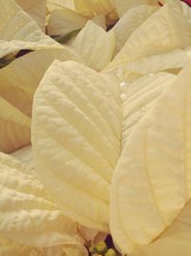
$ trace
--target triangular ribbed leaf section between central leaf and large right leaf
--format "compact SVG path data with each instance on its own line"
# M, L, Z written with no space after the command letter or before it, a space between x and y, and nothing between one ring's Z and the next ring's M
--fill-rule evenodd
M123 97L121 146L125 147L138 122L152 108L161 93L176 76L168 73L149 74L134 81L121 81Z

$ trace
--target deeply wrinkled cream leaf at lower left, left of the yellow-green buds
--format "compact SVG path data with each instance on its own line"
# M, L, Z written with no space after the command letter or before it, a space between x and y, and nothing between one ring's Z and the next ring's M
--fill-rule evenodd
M76 223L58 210L25 165L0 153L0 171L0 232L5 238L36 247L81 246Z

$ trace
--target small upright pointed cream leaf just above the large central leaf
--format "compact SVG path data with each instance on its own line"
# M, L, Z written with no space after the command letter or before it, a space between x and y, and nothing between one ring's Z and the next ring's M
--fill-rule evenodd
M74 41L77 54L96 71L103 69L113 58L115 35L105 32L93 21L88 21Z

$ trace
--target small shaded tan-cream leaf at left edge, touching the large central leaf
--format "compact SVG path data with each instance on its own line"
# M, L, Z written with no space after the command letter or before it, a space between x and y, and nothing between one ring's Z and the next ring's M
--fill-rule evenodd
M31 142L31 118L0 97L0 151L16 151Z

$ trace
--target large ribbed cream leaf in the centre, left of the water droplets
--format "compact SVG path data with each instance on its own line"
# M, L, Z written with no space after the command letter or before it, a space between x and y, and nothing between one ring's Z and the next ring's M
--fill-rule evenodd
M120 126L115 80L74 61L53 62L33 103L36 171L68 217L102 231L108 231Z

